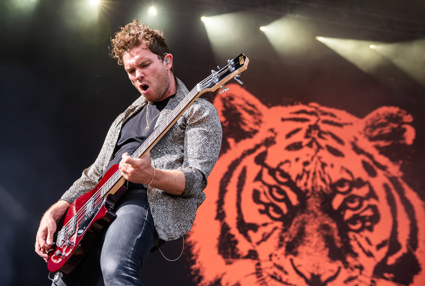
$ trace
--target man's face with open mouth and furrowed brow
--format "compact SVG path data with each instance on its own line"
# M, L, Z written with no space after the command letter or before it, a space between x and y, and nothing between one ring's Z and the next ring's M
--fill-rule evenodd
M125 52L122 62L128 78L148 101L156 102L172 95L166 62L147 49L146 44Z

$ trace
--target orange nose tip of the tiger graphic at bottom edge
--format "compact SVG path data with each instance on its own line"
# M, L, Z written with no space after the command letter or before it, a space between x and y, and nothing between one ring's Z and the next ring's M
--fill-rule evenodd
M295 272L302 277L309 286L326 286L329 282L335 280L340 274L341 266L329 263L321 263L320 266L313 267L312 264L304 261L290 259ZM317 271L310 272L310 269Z

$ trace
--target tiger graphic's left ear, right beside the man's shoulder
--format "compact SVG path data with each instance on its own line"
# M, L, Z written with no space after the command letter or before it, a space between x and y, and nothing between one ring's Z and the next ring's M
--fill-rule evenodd
M228 84L225 93L217 92L214 106L223 126L222 151L253 137L261 128L267 107L239 84Z

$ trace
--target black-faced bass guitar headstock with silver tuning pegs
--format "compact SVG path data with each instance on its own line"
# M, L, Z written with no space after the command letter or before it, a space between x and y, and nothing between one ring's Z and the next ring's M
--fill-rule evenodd
M218 71L212 70L211 75L198 84L198 91L202 93L215 91L232 78L235 78L236 81L243 84L240 79L240 73L247 69L248 62L249 59L243 53L235 59L227 60L227 65L220 68Z

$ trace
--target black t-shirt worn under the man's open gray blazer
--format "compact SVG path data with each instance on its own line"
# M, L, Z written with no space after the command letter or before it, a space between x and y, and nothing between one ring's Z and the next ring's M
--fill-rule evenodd
M121 129L121 133L119 134L118 142L115 146L116 151L114 153L113 159L109 162L106 170L109 170L109 168L111 168L114 164L119 164L122 159L122 154L126 152L130 154L131 152L135 151L153 132L155 129L155 123L158 120L159 113L162 109L164 109L169 99L173 96L174 95L162 101L150 102L149 106L146 104L142 109L139 110L139 112L134 114L130 119L127 120L127 122L124 123ZM149 123L148 130L146 130L146 112L147 123Z

